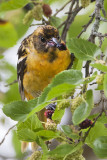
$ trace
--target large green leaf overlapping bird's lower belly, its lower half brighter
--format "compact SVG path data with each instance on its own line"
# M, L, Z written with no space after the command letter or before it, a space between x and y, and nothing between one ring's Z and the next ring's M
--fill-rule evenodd
M75 87L74 85L79 85L80 83L82 83L81 71L72 69L62 71L57 74L52 80L52 83L45 88L39 98L39 102L41 103L72 90Z

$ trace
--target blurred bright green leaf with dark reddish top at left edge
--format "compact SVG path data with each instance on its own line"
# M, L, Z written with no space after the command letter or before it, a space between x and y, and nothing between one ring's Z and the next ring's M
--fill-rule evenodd
M13 25L7 21L0 21L0 47L12 47L16 44L17 38Z

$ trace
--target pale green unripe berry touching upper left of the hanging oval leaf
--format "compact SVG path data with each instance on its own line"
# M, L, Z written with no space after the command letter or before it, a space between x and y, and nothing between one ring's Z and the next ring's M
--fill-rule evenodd
M71 112L72 113L81 104L82 101L83 101L82 97L79 97L79 96L74 98L74 99L72 99L72 105L71 105Z

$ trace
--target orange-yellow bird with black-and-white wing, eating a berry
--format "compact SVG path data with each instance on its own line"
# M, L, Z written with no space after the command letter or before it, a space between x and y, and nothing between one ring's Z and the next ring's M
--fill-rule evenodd
M51 25L37 27L22 41L17 54L17 78L23 101L39 97L56 74L72 65L70 51ZM43 112L44 109L40 111L42 121Z

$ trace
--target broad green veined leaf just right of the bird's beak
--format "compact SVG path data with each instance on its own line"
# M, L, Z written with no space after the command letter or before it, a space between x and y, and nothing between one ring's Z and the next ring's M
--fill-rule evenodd
M67 44L76 58L81 60L94 60L94 58L101 53L99 47L84 39L72 38Z

